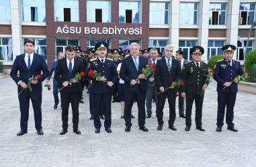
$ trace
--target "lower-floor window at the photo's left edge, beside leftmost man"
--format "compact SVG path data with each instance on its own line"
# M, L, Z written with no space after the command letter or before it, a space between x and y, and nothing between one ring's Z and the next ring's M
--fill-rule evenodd
M11 38L0 38L1 60L13 60L13 40Z

